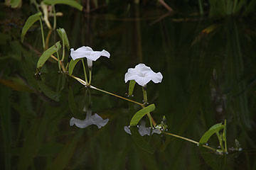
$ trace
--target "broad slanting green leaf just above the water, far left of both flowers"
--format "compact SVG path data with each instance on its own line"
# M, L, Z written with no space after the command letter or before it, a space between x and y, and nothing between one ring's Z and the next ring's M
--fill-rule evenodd
M55 52L57 52L61 48L60 41L56 42L55 45L48 48L45 52L43 52L43 55L38 60L37 69L40 69L43 67L43 64L48 60L48 58L53 55Z

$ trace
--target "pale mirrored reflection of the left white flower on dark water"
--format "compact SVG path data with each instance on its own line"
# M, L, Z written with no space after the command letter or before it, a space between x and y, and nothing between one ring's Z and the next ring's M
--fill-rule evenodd
M86 128L89 125L97 125L97 127L100 129L105 126L108 121L108 118L104 120L102 117L100 117L100 115L97 115L97 113L92 115L92 111L87 111L85 120L71 118L70 126L76 125L78 128Z

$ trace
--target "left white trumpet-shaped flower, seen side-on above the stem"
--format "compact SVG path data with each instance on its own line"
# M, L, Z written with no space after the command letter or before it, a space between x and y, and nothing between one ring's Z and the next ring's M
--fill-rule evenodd
M105 56L110 58L110 52L106 50L102 51L93 51L91 47L82 46L77 50L73 48L70 49L70 55L73 60L80 59L80 58L87 58L88 67L92 67L92 61L96 61L100 56Z

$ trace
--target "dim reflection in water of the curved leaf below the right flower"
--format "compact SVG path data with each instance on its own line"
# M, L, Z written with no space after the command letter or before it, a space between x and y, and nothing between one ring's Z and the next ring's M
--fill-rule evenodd
M144 138L139 135L138 129L135 127L130 127L131 130L131 134L132 134L132 139L134 140L134 142L141 147L142 149L144 149L146 152L149 152L150 154L154 153L154 149L149 145L148 142L146 142L144 140Z

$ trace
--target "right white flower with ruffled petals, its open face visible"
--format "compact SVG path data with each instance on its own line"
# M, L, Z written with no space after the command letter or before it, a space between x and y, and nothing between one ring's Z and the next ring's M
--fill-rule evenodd
M128 72L124 75L124 81L135 80L140 86L146 86L149 81L154 83L161 83L163 76L161 72L155 73L150 67L146 67L145 64L137 64L134 69L128 69Z

